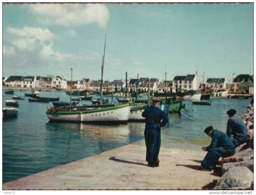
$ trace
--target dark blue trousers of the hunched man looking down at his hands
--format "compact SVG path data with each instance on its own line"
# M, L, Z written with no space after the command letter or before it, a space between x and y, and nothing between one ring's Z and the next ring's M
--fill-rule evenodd
M227 149L227 148L211 148L208 150L204 160L202 161L202 167L212 170L219 160L219 157L228 157L235 153L235 149Z

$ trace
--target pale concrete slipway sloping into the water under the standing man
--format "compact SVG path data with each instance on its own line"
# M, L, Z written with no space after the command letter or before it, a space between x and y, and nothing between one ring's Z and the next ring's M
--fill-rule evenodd
M141 140L4 183L3 190L210 189L220 177L220 171L198 170L204 151L161 147L160 166L153 168L145 153Z

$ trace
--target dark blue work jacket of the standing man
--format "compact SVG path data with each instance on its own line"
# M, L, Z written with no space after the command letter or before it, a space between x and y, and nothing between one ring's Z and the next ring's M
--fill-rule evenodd
M156 126L156 124L160 124L164 127L169 120L168 115L154 105L145 108L142 112L142 116L145 117L146 126Z

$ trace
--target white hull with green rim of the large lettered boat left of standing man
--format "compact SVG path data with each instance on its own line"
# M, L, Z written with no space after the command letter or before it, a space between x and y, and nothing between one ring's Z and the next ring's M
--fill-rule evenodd
M86 111L57 111L46 112L51 121L79 122L79 123L126 123L131 107L116 106Z

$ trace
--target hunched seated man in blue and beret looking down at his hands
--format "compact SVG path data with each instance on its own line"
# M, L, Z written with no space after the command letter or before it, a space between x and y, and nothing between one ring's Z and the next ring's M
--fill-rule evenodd
M202 150L208 151L201 163L203 171L211 171L217 164L219 157L228 157L235 153L235 147L227 134L213 129L209 126L204 131L212 138L208 147L202 147Z

